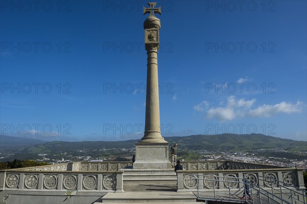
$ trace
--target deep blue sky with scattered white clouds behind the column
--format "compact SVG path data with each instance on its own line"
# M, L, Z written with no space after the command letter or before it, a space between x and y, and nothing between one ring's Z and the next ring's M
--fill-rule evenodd
M144 1L1 1L1 134L143 137ZM306 1L158 1L164 137L307 140Z

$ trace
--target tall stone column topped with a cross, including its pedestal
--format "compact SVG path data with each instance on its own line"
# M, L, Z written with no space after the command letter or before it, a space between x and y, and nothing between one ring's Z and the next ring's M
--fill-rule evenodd
M147 85L144 137L136 143L136 162L134 168L166 169L171 167L168 158L168 142L161 135L158 83L158 50L161 21L161 6L149 2L150 8L143 7L143 14L150 15L144 21L145 49L147 51Z

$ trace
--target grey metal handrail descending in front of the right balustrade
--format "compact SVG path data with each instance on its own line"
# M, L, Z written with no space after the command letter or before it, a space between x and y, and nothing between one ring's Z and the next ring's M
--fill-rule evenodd
M199 176L202 176L202 177L217 177L218 179L212 179L212 178L200 178ZM246 179L246 178L241 178L241 177L231 177L231 176L218 176L218 175L206 175L206 174L192 174L191 175L191 178L192 179L196 179L196 187L197 187L197 191L198 191L198 198L200 197L200 186L205 186L205 185L200 185L199 184L199 180L213 180L213 194L214 194L214 198L216 198L216 194L215 194L215 185L214 185L214 182L227 182L228 183L228 190L229 190L229 199L232 200L231 198L231 192L230 192L230 189L233 189L230 187L230 183L243 183L243 186L244 186L244 195L247 195L246 194L246 189L245 189L245 183L244 182L239 182L239 181L234 181L234 180L225 180L224 178L231 178L231 179L237 179L237 180L240 180L240 179ZM223 178L223 179L220 179L220 178ZM285 200L283 197L282 197L282 193L281 193L281 197L277 196L274 194L273 190L272 190L272 193L269 192L268 190L264 189L264 188L261 188L260 186L256 186L253 182L251 182L250 180L247 180L247 185L248 187L251 189L251 195L252 196L252 203L255 203L256 200L254 200L254 196L255 197L259 197L259 202L260 204L262 203L262 199L261 199L261 195L263 195L264 197L266 197L268 200L269 200L269 203L271 203L271 200L272 201L276 201L276 202L280 202L283 204L283 203L286 203L286 204L292 204L293 203L293 196L292 196L292 189L289 189L291 190L291 197L292 197L292 202L289 202L288 200ZM273 189L273 188L272 188ZM256 191L256 193L258 194L258 196L256 196L256 193L253 193L253 190ZM276 189L275 189L276 190ZM301 190L301 189L300 189ZM281 191L282 192L282 191ZM296 192L296 191L295 191ZM296 192L298 193L298 192ZM301 194L301 193L300 193ZM275 199L274 199L275 198ZM278 199L278 201L276 200ZM294 198L295 200L297 200L296 198ZM305 200L305 199L304 199ZM298 200L299 201L299 200ZM301 201L300 201L301 202ZM305 204L305 201L302 202Z

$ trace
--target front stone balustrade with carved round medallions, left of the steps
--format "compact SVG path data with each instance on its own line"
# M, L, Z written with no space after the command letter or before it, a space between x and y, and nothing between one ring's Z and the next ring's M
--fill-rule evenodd
M123 171L0 171L0 190L122 192Z

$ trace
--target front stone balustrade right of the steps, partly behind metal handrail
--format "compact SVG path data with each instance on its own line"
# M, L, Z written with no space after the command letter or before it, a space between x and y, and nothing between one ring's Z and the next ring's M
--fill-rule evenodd
M262 188L272 188L270 178L278 179L286 184L304 189L302 169L295 168L271 168L271 169L242 169L242 170L179 170L177 171L178 191L195 191L196 180L192 178L193 174L199 174L200 178L209 178L213 180L204 180L201 190L243 188L242 184L228 183L228 181L238 182L238 178L247 178ZM202 176L207 175L207 176ZM208 176L209 175L209 176ZM231 178L223 179L222 176ZM215 181L216 180L216 181ZM220 181L218 181L220 180ZM222 181L221 181L222 180ZM276 186L273 186L275 188Z

